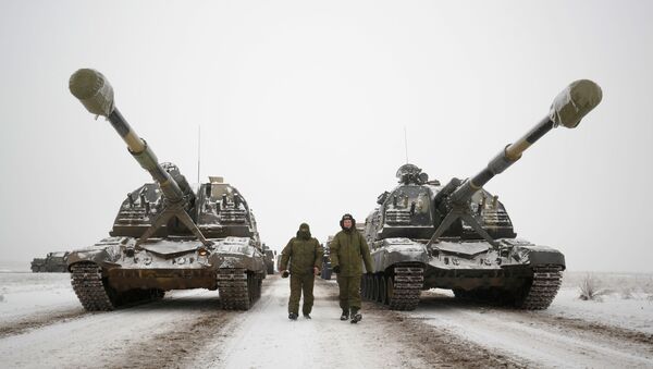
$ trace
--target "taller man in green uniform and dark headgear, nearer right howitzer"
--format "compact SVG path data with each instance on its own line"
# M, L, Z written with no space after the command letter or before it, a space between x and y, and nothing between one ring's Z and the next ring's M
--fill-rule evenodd
M344 214L341 219L340 231L329 245L331 249L332 270L337 274L340 287L340 306L343 309L341 320L352 318L352 323L362 319L360 311L360 276L362 262L368 273L372 270L370 247L365 237L356 230L356 221L352 214ZM349 313L349 309L350 313Z

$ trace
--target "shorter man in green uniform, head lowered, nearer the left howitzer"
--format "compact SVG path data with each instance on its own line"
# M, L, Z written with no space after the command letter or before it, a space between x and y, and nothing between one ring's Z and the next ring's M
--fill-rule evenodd
M308 224L301 223L297 236L293 237L281 253L279 271L282 276L288 275L287 267L291 262L291 298L288 300L288 319L296 320L299 312L299 298L304 291L304 318L310 319L313 304L313 283L316 274L320 273L323 251L320 243L310 236Z

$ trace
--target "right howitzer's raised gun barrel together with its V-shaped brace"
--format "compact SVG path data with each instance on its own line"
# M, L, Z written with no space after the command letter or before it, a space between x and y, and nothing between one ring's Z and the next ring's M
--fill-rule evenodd
M434 198L435 207L447 202L446 206L451 210L438 226L429 245L438 239L458 218L469 220L468 223L483 235L484 238L490 241L490 237L485 236L485 232L480 226L477 226L476 222L466 214L467 209L465 205L470 200L471 196L496 174L502 173L517 162L523 151L551 130L559 125L567 128L577 127L582 118L601 102L602 97L601 87L592 81L579 79L571 83L555 97L549 114L518 140L506 146L505 149L488 163L486 168L463 183L458 179L453 179Z

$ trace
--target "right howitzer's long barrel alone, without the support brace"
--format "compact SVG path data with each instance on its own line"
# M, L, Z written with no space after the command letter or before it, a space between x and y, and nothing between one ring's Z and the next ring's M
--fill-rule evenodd
M517 162L523 151L552 128L558 125L567 128L577 127L580 120L601 102L602 97L601 87L592 81L579 79L571 83L553 100L547 116L521 138L506 146L504 150L490 161L485 169L458 187L451 196L452 201L467 201L477 190L490 182L492 177Z

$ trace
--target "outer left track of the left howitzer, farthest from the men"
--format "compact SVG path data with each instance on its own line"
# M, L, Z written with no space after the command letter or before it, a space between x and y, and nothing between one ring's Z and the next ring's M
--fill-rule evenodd
M78 262L71 267L71 284L87 311L110 311L115 309L104 284L102 269L93 262Z

